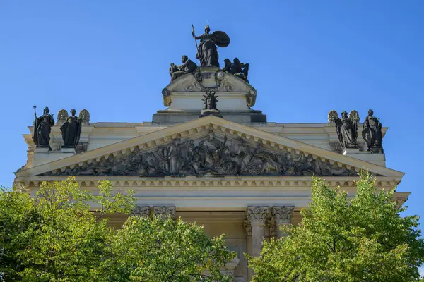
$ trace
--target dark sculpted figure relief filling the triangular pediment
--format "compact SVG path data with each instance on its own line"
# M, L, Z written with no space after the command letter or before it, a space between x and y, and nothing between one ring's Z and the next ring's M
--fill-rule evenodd
M213 130L196 140L173 139L159 147L114 157L109 154L88 164L44 176L356 176L353 168L314 158L272 150L241 138L228 139Z

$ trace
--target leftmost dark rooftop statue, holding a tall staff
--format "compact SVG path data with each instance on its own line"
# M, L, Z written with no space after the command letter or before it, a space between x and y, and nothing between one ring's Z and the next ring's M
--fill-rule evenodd
M52 131L52 126L54 125L53 115L50 114L49 107L45 107L42 116L37 118L37 114L35 113L34 106L34 135L33 140L36 147L40 148L49 148L50 147L50 132Z

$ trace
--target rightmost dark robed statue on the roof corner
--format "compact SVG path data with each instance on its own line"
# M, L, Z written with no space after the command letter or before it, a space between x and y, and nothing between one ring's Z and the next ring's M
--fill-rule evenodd
M368 146L368 151L373 153L382 153L382 123L375 116L374 111L370 109L368 116L364 121L363 138Z

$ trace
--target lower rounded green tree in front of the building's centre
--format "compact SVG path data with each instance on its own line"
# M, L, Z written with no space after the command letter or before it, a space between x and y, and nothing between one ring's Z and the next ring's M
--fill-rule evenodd
M235 254L223 235L208 238L195 223L130 216L116 238L107 267L112 281L230 281L220 266Z

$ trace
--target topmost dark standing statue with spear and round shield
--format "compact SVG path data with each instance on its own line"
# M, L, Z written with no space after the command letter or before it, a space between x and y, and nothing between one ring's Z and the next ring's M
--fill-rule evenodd
M222 31L216 31L212 34L209 32L211 32L211 28L209 28L209 25L206 25L205 33L203 35L196 36L192 25L192 35L194 40L200 40L200 44L197 46L196 59L199 59L200 66L219 67L219 56L216 47L227 47L228 44L230 44L230 37Z

